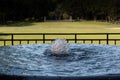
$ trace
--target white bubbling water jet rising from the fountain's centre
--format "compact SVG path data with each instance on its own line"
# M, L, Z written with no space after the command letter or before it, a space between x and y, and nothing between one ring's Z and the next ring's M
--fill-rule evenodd
M52 54L65 55L70 54L69 44L65 39L56 39L52 42L50 48Z

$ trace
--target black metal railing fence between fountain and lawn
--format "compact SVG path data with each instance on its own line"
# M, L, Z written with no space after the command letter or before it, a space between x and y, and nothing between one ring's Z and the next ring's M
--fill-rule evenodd
M26 36L29 35L32 37L26 38ZM6 38L6 36L9 38ZM18 36L22 37L19 38ZM34 38L34 36L37 36L37 38ZM104 41L105 44L113 42L114 45L119 45L117 42L120 41L120 33L0 33L0 44L3 43L3 45L6 46L7 41L11 45L14 45L15 41L18 41L19 44L22 44L22 41L26 41L27 44L29 44L30 41L34 41L35 44L37 44L38 41L46 43L47 41L61 38L60 36L66 39L67 42L73 41L74 43L86 43L89 41L92 44L94 41L97 41L98 44L102 44L102 41ZM66 36L68 37L66 38Z

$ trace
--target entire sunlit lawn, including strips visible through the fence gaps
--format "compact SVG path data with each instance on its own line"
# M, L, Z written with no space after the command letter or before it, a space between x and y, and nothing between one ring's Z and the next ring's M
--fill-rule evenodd
M119 33L119 32L120 24L96 21L33 22L33 23L19 22L9 25L0 25L0 33ZM48 36L47 38L72 38L72 37L73 36L71 37ZM0 36L0 38L9 39L10 36ZM16 36L15 38L17 39L38 38L38 36ZM78 38L104 38L104 36L78 36ZM120 38L120 36L112 36L111 38Z

